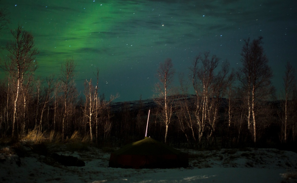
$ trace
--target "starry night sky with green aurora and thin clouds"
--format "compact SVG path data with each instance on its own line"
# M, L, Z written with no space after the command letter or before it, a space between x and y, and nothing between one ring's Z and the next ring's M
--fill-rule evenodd
M296 0L0 0L10 29L31 31L40 54L36 75L60 72L61 63L77 63L77 88L99 68L99 92L120 94L116 101L151 98L160 62L171 58L177 74L189 75L195 57L205 51L241 66L244 39L263 36L263 47L282 87L285 63L297 68ZM0 44L11 39L2 30ZM1 77L3 77L3 71Z

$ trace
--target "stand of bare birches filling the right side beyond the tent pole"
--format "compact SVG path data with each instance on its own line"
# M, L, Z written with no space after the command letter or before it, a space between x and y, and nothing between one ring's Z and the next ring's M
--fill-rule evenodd
M286 63L283 100L276 100L262 39L244 40L238 70L230 71L227 60L219 62L209 52L199 54L189 68L190 77L178 75L179 91L171 86L171 59L159 65L156 102L159 121L165 126L164 142L169 125L175 123L196 147L296 143L296 71ZM195 97L188 97L189 89Z

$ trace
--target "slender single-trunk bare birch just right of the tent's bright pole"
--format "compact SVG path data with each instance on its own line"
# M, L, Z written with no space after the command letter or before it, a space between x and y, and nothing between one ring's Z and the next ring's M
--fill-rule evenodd
M162 108L162 123L165 125L165 143L168 135L168 126L171 122L171 117L173 115L173 99L169 99L172 91L171 84L173 81L174 70L173 64L170 58L167 58L165 62L159 64L156 77L159 79L159 83L156 84L156 93L159 94L159 100L157 99L157 104Z

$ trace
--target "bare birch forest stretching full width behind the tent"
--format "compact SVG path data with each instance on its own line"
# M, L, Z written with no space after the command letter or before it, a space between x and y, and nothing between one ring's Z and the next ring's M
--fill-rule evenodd
M156 70L152 99L114 102L118 95L99 95L99 69L79 96L72 58L65 58L59 76L36 76L33 35L21 26L11 33L0 60L6 73L0 83L1 139L63 142L78 135L83 142L119 147L143 139L149 121L148 136L178 148L296 150L296 71L287 62L277 99L262 37L244 41L238 70L203 52L194 58L190 77L178 74L179 86L173 86L176 73L168 58Z

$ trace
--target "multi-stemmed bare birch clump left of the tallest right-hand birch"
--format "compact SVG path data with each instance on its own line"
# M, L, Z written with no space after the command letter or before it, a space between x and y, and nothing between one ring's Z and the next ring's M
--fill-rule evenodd
M192 86L196 94L194 115L196 126L198 128L198 144L201 143L206 126L210 131L207 138L211 136L214 131L215 121L217 120L218 104L214 99L210 100L210 97L218 95L219 93L217 92L220 92L221 89L217 88L217 86L220 86L220 84L216 81L219 79L219 75L218 73L215 73L218 62L218 57L215 55L209 57L209 52L205 52L204 54L199 54L198 57L196 57L193 62L193 66L190 68L192 71Z

